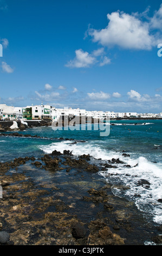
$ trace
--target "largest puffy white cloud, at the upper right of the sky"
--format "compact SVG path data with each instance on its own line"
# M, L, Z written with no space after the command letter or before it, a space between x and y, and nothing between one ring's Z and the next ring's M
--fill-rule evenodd
M160 19L159 19L160 17ZM157 35L150 33L151 25L155 26L155 21L162 24L162 5L154 14L152 21L142 21L141 15L126 14L123 11L116 11L107 14L108 26L97 30L88 29L88 34L93 37L94 42L99 42L102 46L120 46L127 49L151 50L157 45ZM157 22L158 23L158 22ZM159 25L161 27L161 25Z

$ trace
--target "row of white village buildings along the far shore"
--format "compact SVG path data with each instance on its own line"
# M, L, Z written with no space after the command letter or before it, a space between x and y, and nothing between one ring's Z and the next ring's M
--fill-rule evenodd
M80 108L55 108L50 105L31 105L26 107L7 106L0 104L0 120L58 120L61 116L86 117L93 119L116 118L162 118L161 113L87 111Z

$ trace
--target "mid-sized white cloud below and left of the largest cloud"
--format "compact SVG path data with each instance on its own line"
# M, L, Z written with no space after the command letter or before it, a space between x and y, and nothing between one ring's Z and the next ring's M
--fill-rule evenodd
M68 68L89 68L90 65L96 62L95 57L82 49L76 50L75 54L75 58L66 64Z

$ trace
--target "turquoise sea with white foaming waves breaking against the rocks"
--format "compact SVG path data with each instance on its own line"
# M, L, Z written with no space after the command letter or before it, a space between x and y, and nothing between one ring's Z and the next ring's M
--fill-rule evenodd
M94 131L93 127L74 131L37 127L20 132L48 138L0 137L0 161L40 157L53 150L61 153L70 150L75 156L89 154L94 157L92 162L100 165L119 158L125 164L115 164L118 168L100 172L101 179L111 182L114 194L133 200L148 219L161 224L162 204L158 199L162 198L162 120L114 120L109 128L110 134L106 137L101 137L100 130ZM60 137L86 142L72 144L73 141L55 139ZM123 150L130 156L123 156ZM131 167L124 166L127 164ZM147 180L150 186L139 185L141 179ZM121 190L120 185L129 186L129 190Z

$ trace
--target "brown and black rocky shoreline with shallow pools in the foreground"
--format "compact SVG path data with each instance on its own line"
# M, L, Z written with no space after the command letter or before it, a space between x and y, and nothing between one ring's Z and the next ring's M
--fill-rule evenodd
M112 159L105 166L97 166L89 155L76 158L70 151L61 154L55 150L39 159L18 157L1 162L0 243L69 246L161 243L162 227L148 223L133 202L114 196L112 185L98 174L99 170L115 168L119 161Z

